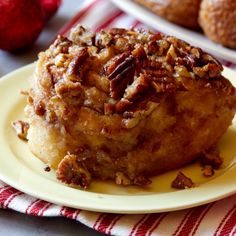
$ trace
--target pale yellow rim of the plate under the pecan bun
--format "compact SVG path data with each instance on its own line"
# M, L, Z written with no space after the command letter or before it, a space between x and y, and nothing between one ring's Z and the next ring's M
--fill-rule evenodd
M18 80L24 81L25 74L31 74L34 69L35 64L27 65L23 68L20 68L0 79L0 94L4 86L14 84L15 89L21 88L22 83L12 83L17 78ZM229 69L226 69L229 70ZM229 70L232 71L232 70ZM231 72L232 73L232 72ZM233 72L235 75L236 73ZM26 83L26 82L24 82ZM8 87L11 89L11 86ZM19 95L15 95L17 97ZM12 98L14 99L14 98ZM8 100L2 102L0 107L0 112L4 110L4 106L9 103ZM5 105L4 105L5 104ZM9 104L8 104L9 105ZM6 118L6 117L5 117ZM96 211L96 212L109 212L109 213L125 213L125 214L138 214L138 213L158 213L158 212L169 212L175 210L182 210L190 207L199 206L205 203L209 203L215 200L219 200L230 196L236 193L235 180L233 181L232 176L235 177L236 168L235 166L228 172L222 174L221 176L210 180L202 184L199 187L192 189L180 190L170 193L152 193L147 195L114 195L114 194L103 194L95 192L87 192L84 190L73 189L71 187L65 186L61 183L56 183L50 179L47 179L38 173L33 172L28 167L24 166L19 160L16 160L14 153L12 153L9 143L4 139L5 126L4 116L0 117L0 145L2 148L0 154L0 179L5 183L11 185L12 187L27 193L33 197L40 198L45 201L49 201L55 204L64 205L73 208L79 208L83 210ZM5 146L3 146L5 145ZM4 154L4 151L6 152ZM7 159L4 158L7 154ZM10 163L9 163L10 160ZM17 173L11 174L7 170L7 166L15 165ZM4 168L6 168L4 170ZM15 175L17 177L15 177ZM25 178L27 177L27 178ZM25 178L25 179L24 179ZM229 183L226 187L222 188L220 193L215 194L214 196L209 196L205 193L206 189L212 187L212 184L224 182L224 179L231 179L232 182ZM32 182L34 185L32 186ZM39 188L40 185L48 185L49 190L45 190L43 187ZM231 186L232 185L232 186ZM39 188L39 189L38 189ZM199 191L200 189L200 191ZM60 197L55 196L56 193L53 193L54 190L64 191ZM67 192L67 193L65 193ZM49 193L49 195L48 195ZM70 194L74 195L71 196ZM192 195L201 195L196 200L190 196ZM68 202L66 197L71 196L71 201ZM176 198L181 199L179 204L176 204ZM89 201L92 201L92 204ZM167 201L163 204L163 200ZM124 204L125 203L125 204Z

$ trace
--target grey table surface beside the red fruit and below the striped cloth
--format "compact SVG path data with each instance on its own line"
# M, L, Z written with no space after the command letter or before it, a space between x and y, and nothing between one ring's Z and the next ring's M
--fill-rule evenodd
M46 25L37 42L27 52L10 54L0 50L0 77L37 59L39 51L48 47L58 30L79 10L83 0L64 0ZM65 218L40 218L0 209L0 235L101 235L93 229Z

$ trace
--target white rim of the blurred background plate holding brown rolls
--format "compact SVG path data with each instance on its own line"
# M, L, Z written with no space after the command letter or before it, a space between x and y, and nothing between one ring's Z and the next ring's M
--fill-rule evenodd
M236 63L236 50L234 49L230 49L220 44L214 43L201 33L194 32L193 30L167 21L151 12L144 6L141 6L140 4L134 2L133 0L110 1L123 11L127 12L130 15L133 15L141 22L144 22L154 29L160 30L167 35L174 35L177 38L181 38L192 45L204 49L208 53L211 53L218 58ZM201 40L195 39L196 36L201 37Z

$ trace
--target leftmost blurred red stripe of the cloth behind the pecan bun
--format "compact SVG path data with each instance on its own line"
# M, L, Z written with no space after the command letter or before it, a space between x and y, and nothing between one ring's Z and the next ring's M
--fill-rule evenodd
M75 24L78 23L79 20L85 17L87 13L92 8L94 8L99 2L100 0L95 0L94 2L92 2L91 4L83 8L81 11L79 11L78 14L76 14L65 26L63 26L62 29L60 29L60 31L58 32L58 35L66 34Z

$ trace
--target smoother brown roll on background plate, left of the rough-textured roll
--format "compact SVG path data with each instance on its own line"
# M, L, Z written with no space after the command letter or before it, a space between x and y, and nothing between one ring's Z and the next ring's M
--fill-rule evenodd
M135 0L157 15L178 25L198 29L201 0Z

